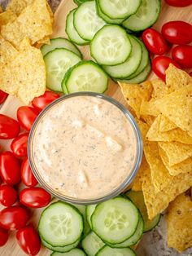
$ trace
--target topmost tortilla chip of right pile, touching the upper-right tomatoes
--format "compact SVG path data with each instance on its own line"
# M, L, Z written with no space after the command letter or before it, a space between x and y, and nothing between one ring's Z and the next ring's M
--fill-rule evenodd
M192 82L192 78L185 71L176 68L173 64L169 64L166 73L166 84L168 86L168 93L179 90L181 87L187 86Z

